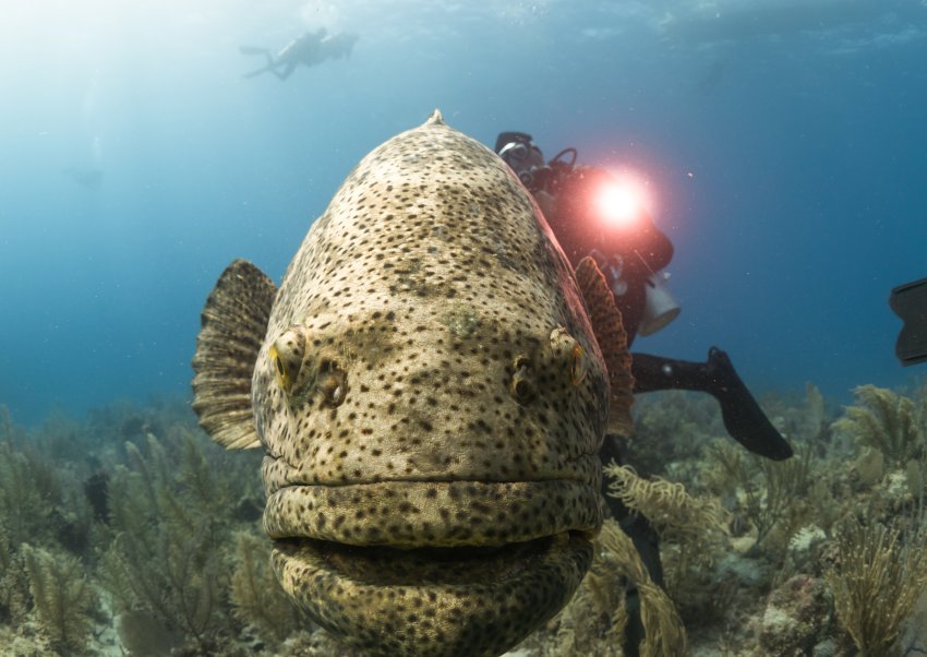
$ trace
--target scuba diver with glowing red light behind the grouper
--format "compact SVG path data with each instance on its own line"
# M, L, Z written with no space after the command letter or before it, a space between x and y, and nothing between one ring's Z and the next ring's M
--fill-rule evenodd
M595 260L622 313L628 349L638 334L655 333L679 314L679 307L660 275L673 258L672 242L640 208L625 207L623 216L609 216L614 214L614 202L621 199L614 196L617 181L607 171L576 165L576 148L565 148L545 163L531 135L523 132L501 133L495 152L531 192L570 264L576 267L587 255ZM631 353L631 374L634 393L690 390L712 395L721 405L725 429L747 450L773 461L792 456L792 447L718 347L709 349L705 362ZM613 458L618 463L627 461L622 454L626 438L605 435L600 453L603 463ZM607 492L604 487L603 482L603 493ZM657 533L647 518L630 513L619 500L604 497L651 580L663 586ZM629 624L625 654L637 655L645 634L639 600L636 590L626 593Z

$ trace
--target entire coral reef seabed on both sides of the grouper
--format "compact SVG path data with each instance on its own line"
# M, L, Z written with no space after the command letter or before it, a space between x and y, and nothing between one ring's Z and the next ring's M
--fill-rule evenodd
M610 519L578 594L514 655L618 657L638 604L641 655L927 648L924 389L763 397L796 450L782 464L724 437L710 398L639 402L635 467L606 476L657 529L665 589ZM350 655L268 568L260 458L213 445L183 402L32 429L0 406L0 653Z

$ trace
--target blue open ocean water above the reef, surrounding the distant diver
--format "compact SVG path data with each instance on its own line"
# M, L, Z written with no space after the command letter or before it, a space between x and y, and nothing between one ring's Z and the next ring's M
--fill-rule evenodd
M242 77L239 46L320 27L359 36L350 59ZM927 276L925 37L920 0L7 0L0 404L189 394L226 264L279 279L435 107L646 177L683 313L636 349L717 344L758 393L923 378L887 298Z

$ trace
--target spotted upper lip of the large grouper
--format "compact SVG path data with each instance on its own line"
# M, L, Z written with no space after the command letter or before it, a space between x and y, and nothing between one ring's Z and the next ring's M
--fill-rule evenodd
M264 511L270 538L390 548L499 547L601 525L598 486L568 479L290 486Z

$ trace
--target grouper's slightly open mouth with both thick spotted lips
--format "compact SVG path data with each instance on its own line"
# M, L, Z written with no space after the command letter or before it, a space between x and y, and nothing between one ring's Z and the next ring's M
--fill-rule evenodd
M287 593L363 654L497 655L573 596L600 514L576 481L392 481L278 490L265 527Z

